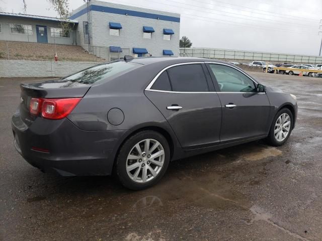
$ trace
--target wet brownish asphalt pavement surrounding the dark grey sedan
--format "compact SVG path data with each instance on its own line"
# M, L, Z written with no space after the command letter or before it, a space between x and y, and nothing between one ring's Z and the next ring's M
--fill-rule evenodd
M322 78L250 73L297 96L288 142L172 162L143 191L30 166L10 123L30 79L0 78L0 240L322 240Z

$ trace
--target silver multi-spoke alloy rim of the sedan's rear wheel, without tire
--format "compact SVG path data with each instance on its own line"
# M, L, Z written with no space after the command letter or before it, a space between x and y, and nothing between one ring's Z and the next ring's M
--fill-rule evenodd
M126 159L127 175L138 183L154 179L165 162L164 147L154 139L144 139L132 147Z

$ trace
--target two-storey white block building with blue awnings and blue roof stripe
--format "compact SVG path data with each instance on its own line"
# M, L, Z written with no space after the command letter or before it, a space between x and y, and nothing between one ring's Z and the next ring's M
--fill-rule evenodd
M112 59L120 51L122 56L179 56L180 14L91 0L69 19L78 22L80 45L97 55L105 49Z

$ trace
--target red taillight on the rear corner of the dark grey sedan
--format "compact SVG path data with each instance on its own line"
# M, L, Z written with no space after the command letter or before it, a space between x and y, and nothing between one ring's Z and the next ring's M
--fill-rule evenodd
M62 119L66 117L82 98L43 99L32 98L30 112L47 119ZM36 110L37 107L37 110Z

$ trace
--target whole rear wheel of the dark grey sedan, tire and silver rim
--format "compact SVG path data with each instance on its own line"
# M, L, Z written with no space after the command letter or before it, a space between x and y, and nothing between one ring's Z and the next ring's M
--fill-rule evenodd
M169 161L167 139L155 131L142 131L122 145L116 159L116 172L123 186L145 189L162 178Z

